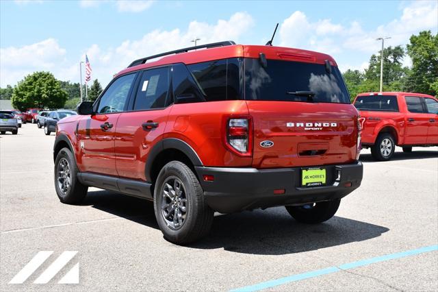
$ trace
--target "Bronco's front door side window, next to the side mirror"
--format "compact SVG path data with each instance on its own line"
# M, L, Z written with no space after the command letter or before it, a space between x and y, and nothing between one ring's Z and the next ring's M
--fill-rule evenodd
M136 73L123 75L115 80L99 99L98 114L123 112Z

